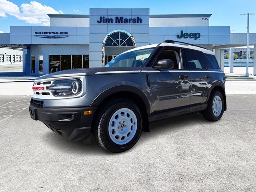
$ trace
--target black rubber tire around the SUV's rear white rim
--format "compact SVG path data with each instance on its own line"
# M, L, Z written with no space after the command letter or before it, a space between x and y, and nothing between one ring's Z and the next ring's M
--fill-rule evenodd
M222 101L222 110L221 110L221 112L220 112L220 114L218 116L214 115L214 112L213 112L213 107L214 106L212 106L213 100L214 100L214 98L216 96L219 96L221 101ZM207 108L206 108L206 110L202 111L201 114L208 121L218 121L222 117L223 112L224 112L224 99L223 99L223 96L222 96L222 94L219 91L213 90L211 95L210 95L210 98L208 100Z

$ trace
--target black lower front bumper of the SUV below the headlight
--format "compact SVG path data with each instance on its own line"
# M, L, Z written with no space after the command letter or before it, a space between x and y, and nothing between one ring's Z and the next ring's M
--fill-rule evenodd
M84 115L84 111L92 114ZM83 140L91 134L96 107L46 108L31 102L30 117L43 122L52 131L69 140Z

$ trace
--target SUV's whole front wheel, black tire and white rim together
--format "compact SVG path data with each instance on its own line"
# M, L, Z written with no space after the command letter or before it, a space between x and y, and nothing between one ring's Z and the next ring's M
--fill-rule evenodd
M123 152L136 144L142 132L138 106L127 99L114 99L105 104L94 122L94 138L109 152Z

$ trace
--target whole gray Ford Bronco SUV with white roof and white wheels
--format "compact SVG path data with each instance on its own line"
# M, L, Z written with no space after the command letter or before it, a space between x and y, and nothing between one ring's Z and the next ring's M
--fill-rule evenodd
M126 51L103 68L64 70L35 79L30 116L69 140L90 134L109 152L136 144L149 123L226 110L225 74L214 54L166 40Z

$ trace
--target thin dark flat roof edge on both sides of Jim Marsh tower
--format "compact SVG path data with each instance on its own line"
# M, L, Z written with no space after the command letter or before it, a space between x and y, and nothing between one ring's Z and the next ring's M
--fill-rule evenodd
M164 14L149 15L150 18L188 18L188 17L210 17L212 14ZM50 18L89 18L90 15L80 14L48 14Z

